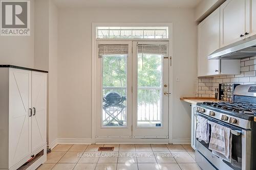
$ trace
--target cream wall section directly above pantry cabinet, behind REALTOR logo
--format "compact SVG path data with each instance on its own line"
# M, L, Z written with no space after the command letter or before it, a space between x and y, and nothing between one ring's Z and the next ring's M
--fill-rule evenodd
M30 36L0 36L0 64L34 66L34 0L30 2Z

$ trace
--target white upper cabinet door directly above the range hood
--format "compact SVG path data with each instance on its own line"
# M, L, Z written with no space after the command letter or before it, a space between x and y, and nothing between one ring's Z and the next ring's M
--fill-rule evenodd
M249 28L250 0L227 0L221 5L221 47L245 38Z

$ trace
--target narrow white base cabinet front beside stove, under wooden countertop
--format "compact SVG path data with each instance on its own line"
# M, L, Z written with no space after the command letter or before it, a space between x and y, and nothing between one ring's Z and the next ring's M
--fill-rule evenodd
M191 147L196 149L196 130L197 130L197 117L196 117L196 105L191 105Z

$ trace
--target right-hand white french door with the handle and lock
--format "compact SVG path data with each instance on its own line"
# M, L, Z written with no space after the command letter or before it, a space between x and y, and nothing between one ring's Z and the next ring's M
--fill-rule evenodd
M168 42L133 42L133 138L168 138Z

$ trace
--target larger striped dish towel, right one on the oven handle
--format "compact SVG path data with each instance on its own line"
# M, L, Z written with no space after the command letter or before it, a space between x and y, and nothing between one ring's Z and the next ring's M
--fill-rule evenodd
M211 122L209 149L212 153L231 162L232 134L231 129Z

